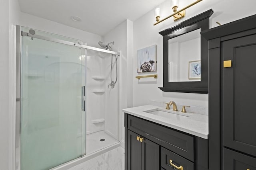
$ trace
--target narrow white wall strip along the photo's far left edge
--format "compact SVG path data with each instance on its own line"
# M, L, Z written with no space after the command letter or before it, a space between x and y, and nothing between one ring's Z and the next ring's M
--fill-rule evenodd
M8 104L9 104L9 0L0 0L0 167L8 169Z

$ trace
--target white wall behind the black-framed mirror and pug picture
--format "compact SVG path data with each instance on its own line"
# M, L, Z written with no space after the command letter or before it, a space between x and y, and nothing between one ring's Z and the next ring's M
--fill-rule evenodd
M194 0L180 1L180 6L184 7ZM232 7L231 7L232 6ZM169 18L158 25L153 25L156 20L154 18L154 9L149 11L147 14L134 21L134 53L133 61L134 67L133 72L133 95L134 106L141 106L149 104L150 99L157 99L169 102L174 100L178 104L186 104L191 106L208 107L208 94L188 94L188 93L176 93L176 92L162 92L158 87L163 86L163 45L162 35L158 32L170 28L178 23L192 18L197 14L200 14L206 10L213 9L214 14L210 17L210 28L218 26L216 21L221 24L229 23L234 20L238 20L247 16L255 14L255 0L247 0L246 3L241 3L239 0L204 0L198 4L188 8L186 10L186 16L184 19L174 22L173 18ZM159 8L162 10L162 17L164 18L171 14L170 1L166 0L160 4ZM178 8L179 9L179 8ZM160 19L161 19L160 18ZM136 53L138 49L148 47L150 45L158 46L157 53L157 74L158 79L155 81L154 78L137 80L134 77L136 73ZM155 74L155 73L153 73Z

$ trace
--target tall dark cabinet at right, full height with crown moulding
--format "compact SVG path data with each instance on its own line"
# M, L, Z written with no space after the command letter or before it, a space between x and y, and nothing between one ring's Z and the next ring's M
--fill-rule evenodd
M256 170L256 15L201 34L209 50L209 170Z

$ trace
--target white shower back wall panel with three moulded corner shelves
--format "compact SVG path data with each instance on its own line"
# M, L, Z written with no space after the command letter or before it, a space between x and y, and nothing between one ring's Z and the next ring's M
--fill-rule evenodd
M105 90L106 63L105 54L99 51L86 50L86 130L87 134L105 130Z

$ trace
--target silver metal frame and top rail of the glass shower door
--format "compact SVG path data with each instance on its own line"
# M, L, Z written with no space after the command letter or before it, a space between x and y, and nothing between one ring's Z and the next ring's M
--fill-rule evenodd
M96 48L96 47L91 47L86 45L86 43L83 43L82 41L78 41L77 43L74 42L70 42L70 41L64 41L61 39L55 39L55 38L50 38L50 37L45 37L42 35L32 35L30 33L26 33L21 31L21 25L16 25L16 110L15 110L15 163L16 160L18 160L18 166L16 165L15 167L18 167L18 170L20 170L20 153L21 153L21 147L20 147L20 140L21 140L21 135L20 135L20 87L21 87L21 37L22 36L28 36L28 37L34 37L37 39L43 39L46 41L52 41L55 43L62 43L62 44L66 44L66 45L71 45L71 46L75 46L75 47L80 47L82 49L90 49L90 50L94 50L94 51L100 51L100 52L104 52L104 53L109 53L109 54L114 54L117 56L120 56L120 52L115 52L115 51L108 51L105 49L100 49L100 48ZM26 27L27 28L27 27ZM85 92L85 91L84 91ZM120 93L118 92L118 95ZM119 97L119 96L118 96ZM83 98L84 99L84 98ZM85 100L85 99L84 99ZM86 101L84 101L86 102ZM119 106L119 104L118 104ZM119 107L118 107L119 108ZM119 109L118 109L119 110ZM85 110L84 110L85 111ZM86 117L86 116L85 116ZM118 114L118 120L120 120L120 116ZM86 120L85 120L86 121ZM118 127L120 127L120 121L118 121ZM118 131L120 128L118 128ZM85 134L86 135L86 134ZM118 132L118 141L120 141L120 132ZM86 154L85 154L86 155ZM84 155L82 155L84 156ZM81 156L81 157L82 157ZM70 160L72 161L72 160ZM65 163L64 163L65 164ZM15 168L15 170L17 170Z

